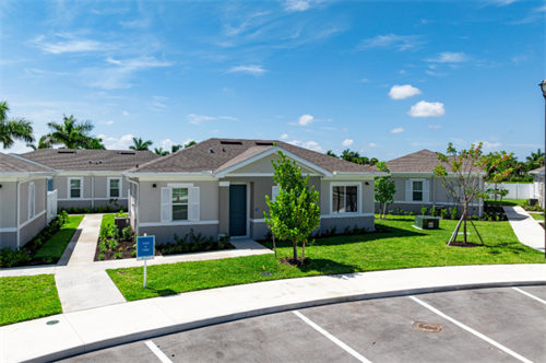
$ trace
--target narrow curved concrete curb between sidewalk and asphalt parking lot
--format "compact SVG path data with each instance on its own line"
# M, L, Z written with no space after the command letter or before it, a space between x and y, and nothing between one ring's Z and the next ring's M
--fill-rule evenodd
M195 320L191 323L185 324L174 324L170 326L151 329L146 331L139 331L128 336L121 336L116 338L109 338L106 340L97 341L92 344L81 344L79 347L72 347L62 351L58 351L51 354L46 354L41 356L34 358L26 362L52 362L61 359L67 359L70 356L90 353L96 350L102 350L106 348L111 348L115 346L127 344L134 341L156 338L161 336L166 336L170 333L198 329L202 327L207 327L212 325L229 323L234 320L240 320L250 317L263 316L269 314L283 313L287 311L294 311L306 307L314 307L314 306L323 306L331 304L340 304L340 303L348 303L355 301L365 301L365 300L373 300L373 298L387 298L387 297L397 297L397 296L407 296L407 295L419 295L427 293L438 293L438 292L450 292L450 291L460 291L460 290L476 290L476 289L490 289L490 288L511 288L511 286L533 286L533 285L546 285L546 281L519 281L519 282L487 282L487 283L470 283L470 284L455 284L455 285L443 285L443 286L432 286L432 288L418 288L418 289L408 289L408 290L393 290L387 292L379 293L363 293L363 294L353 294L353 295L344 295L321 300L312 300L308 302L299 302L293 304L285 304L278 306L271 306L266 308L260 309L251 309L241 313L228 314L228 315L219 315L212 318ZM64 315L64 314L63 314Z

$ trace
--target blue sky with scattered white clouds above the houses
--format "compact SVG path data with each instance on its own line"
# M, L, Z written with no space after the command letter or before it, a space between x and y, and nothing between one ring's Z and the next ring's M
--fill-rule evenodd
M544 1L0 4L0 98L37 136L73 114L108 149L281 139L390 160L544 145Z

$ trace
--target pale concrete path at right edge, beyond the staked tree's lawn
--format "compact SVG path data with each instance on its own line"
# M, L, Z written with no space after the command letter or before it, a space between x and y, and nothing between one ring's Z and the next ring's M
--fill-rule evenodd
M544 251L544 229L521 207L502 207L518 239Z

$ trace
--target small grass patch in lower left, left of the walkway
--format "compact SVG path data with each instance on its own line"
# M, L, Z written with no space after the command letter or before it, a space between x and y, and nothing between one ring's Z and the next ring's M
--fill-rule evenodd
M0 279L0 326L62 313L52 274Z

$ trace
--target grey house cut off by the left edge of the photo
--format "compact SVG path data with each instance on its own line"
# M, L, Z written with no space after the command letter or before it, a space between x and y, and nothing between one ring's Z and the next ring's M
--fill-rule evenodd
M48 208L47 191L48 177L55 174L47 166L0 153L0 248L24 246L57 215L55 204Z

